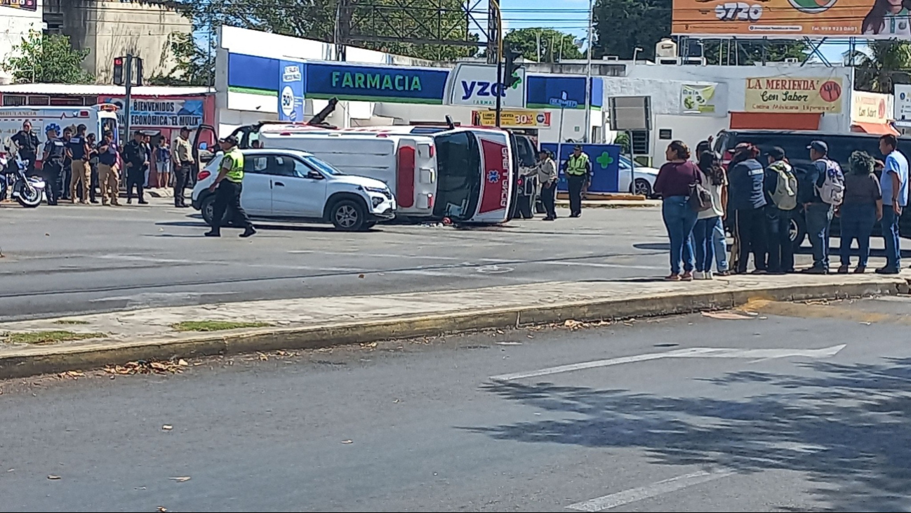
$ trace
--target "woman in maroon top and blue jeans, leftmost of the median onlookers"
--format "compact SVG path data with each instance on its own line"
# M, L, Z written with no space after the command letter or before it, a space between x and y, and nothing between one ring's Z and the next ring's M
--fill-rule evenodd
M702 180L699 169L690 161L690 149L682 141L672 141L665 157L668 162L658 171L655 192L661 195L661 216L670 239L670 276L666 280L689 282L694 262L691 234L697 217L696 210L690 208L690 187Z

